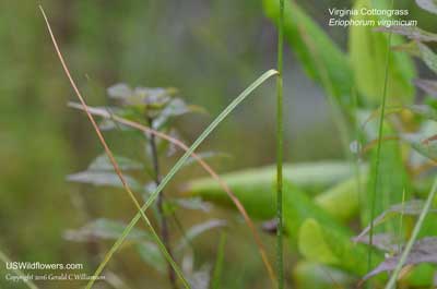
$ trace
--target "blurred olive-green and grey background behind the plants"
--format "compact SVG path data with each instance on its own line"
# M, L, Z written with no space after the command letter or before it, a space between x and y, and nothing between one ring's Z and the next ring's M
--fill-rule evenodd
M351 5L345 0L299 2L322 25L328 7ZM413 1L399 2L410 7ZM178 120L176 125L188 143L243 88L275 65L276 32L264 17L261 1L253 0L0 2L0 249L14 261L84 263L91 274L110 242L72 243L62 233L98 217L128 221L134 208L122 191L66 181L67 174L83 170L102 147L85 116L67 107L75 96L55 55L39 3L88 105L107 105L106 87L118 82L177 87L188 103L210 112ZM423 28L435 25L429 16L418 15ZM345 46L342 28L329 34ZM290 49L285 89L286 159L340 158L340 141L327 101ZM202 150L231 155L214 160L214 168L223 172L274 161L274 82L270 82L202 146ZM116 153L132 154L134 140L117 133L107 137ZM168 169L175 159L165 161ZM203 176L199 169L185 172L172 188L199 174ZM235 217L218 209L213 215ZM184 213L182 220L188 225L206 218L205 214ZM247 241L246 227L238 221L232 226L224 288L265 288L267 274L253 242ZM199 239L200 263L214 261L216 240L216 232ZM265 241L273 244L269 238ZM110 270L129 288L166 288L165 279L134 251L118 253ZM10 286L0 279L0 288L21 288Z

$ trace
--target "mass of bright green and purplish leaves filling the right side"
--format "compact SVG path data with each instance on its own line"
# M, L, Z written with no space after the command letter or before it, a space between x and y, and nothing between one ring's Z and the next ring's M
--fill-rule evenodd
M437 11L434 0L416 2L430 13ZM263 3L268 16L277 23L277 1ZM363 7L389 8L389 1L355 1L355 9ZM357 154L356 161L351 161L354 157L345 152L347 161L285 166L284 226L290 245L302 256L294 265L294 280L303 288L308 288L307 284L314 285L311 288L328 288L373 277L378 286L387 279L379 273L393 270L399 262L414 220L423 210L421 198L429 192L433 161L437 160L437 112L432 98L437 96L437 82L417 79L412 59L422 59L437 73L437 56L425 44L436 41L436 34L418 27L353 26L345 53L295 1L286 1L284 24L297 59L333 99L331 104L341 109L346 120L346 139L355 140ZM405 37L411 41L405 43ZM390 47L392 51L388 53ZM430 96L423 105L414 105L415 87ZM389 108L379 135L378 123L371 120L380 115L375 109L383 94ZM375 149L378 137L380 154ZM274 217L274 168L265 167L232 172L223 179L252 217L265 220ZM231 205L211 179L193 180L186 189L216 204ZM400 280L406 286L433 282L434 268L426 265L436 263L433 236L437 234L437 217L433 213L434 209L422 226L422 239L406 258L410 269ZM365 228L362 233L356 236L349 226L351 220L361 222ZM274 227L274 222L268 222L269 231L272 224ZM375 230L370 230L369 224ZM366 264L366 260L370 263ZM323 270L339 279L333 281L320 274L324 276L315 280L317 275L308 276L303 268Z

